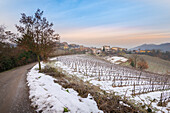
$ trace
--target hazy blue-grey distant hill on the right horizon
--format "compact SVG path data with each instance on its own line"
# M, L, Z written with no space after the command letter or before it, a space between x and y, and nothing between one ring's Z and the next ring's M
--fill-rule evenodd
M143 44L134 48L131 48L130 50L152 50L152 49L159 49L161 51L170 51L170 43L164 43L160 45L156 44Z

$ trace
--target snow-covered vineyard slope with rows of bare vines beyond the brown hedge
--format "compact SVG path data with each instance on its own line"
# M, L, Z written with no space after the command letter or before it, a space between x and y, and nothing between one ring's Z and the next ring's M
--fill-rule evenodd
M170 109L170 102L166 107L157 106L161 94L163 100L170 98L170 78L167 76L141 73L87 55L60 56L51 60L54 61L51 65L62 70L63 73L89 81L108 93L116 92L122 97L126 95L126 98L134 100L136 104L149 105L155 99L151 108L164 112L168 112ZM136 96L132 96L132 94Z

